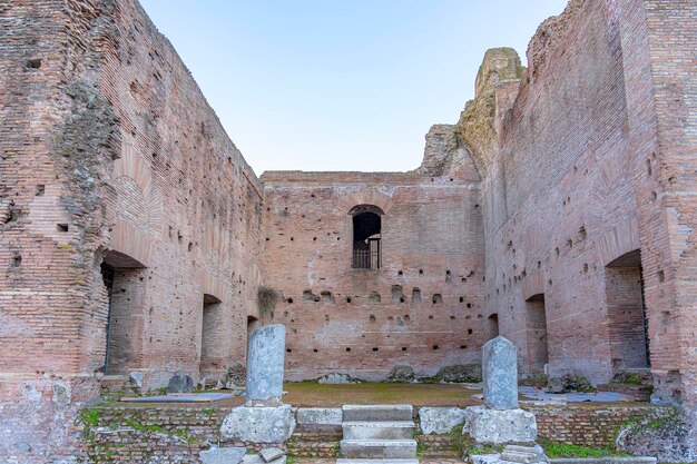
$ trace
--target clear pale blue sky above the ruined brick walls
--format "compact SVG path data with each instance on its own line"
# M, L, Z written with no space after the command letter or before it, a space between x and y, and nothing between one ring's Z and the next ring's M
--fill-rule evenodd
M257 175L403 171L567 0L140 0Z

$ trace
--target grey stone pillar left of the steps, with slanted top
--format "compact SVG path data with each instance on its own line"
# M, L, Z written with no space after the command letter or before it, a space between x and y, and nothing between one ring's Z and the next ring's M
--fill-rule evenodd
M249 336L247 405L281 404L285 363L285 326L267 325Z

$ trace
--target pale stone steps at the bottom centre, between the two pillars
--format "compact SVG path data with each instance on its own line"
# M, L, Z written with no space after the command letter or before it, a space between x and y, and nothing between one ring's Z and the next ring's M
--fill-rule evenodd
M337 464L419 464L410 405L346 405L342 408Z

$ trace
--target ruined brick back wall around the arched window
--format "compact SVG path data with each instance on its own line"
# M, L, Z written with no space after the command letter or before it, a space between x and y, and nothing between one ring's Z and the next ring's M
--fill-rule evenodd
M265 285L283 298L286 377L434 375L479 363L483 237L479 175L452 126L426 139L418 171L262 176ZM382 209L382 267L352 268L352 208Z

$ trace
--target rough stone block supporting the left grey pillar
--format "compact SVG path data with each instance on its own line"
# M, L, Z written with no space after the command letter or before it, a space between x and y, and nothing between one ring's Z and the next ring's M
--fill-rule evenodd
M295 430L289 405L276 407L238 406L225 417L220 437L235 442L283 443Z

